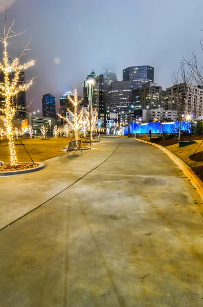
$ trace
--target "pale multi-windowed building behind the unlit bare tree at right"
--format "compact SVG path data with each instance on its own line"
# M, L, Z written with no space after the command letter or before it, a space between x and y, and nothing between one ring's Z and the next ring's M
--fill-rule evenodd
M187 93L187 94L186 94ZM184 114L181 114L181 109L179 107L179 99L177 95L186 95L185 110ZM194 118L203 116L203 87L200 85L190 86L189 89L186 89L184 83L173 85L166 89L166 104L165 107L167 110L177 111L177 119L179 116L191 115Z

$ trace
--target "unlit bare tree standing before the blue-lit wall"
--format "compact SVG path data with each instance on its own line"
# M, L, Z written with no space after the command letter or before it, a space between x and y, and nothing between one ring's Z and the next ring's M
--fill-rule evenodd
M192 74L188 65L185 61L182 61L178 71L173 71L172 76L172 82L176 86L175 102L177 104L177 116L179 117L178 140L181 140L182 116L185 114L186 106L188 104L188 96L192 80Z

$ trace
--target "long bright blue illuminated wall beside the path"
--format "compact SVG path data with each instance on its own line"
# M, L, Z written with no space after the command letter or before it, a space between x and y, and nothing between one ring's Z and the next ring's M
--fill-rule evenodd
M148 134L149 130L151 133L178 133L179 131L179 121L175 121L173 123L161 123L161 122L154 122L154 123L146 123L146 124L130 124L130 134ZM189 126L189 129L188 129ZM190 122L183 121L181 123L181 130L187 131L189 130L190 133ZM128 135L128 126L125 127L124 135Z

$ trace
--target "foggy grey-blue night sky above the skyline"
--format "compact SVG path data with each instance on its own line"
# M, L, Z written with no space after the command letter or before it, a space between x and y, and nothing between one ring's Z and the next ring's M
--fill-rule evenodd
M43 94L59 98L77 87L93 69L108 68L122 80L128 66L154 67L154 81L165 89L183 56L195 50L203 64L202 0L0 0L0 32L6 5L16 17L14 31L27 30L9 44L10 57L17 56L32 37L25 60L36 59L26 79L37 76L27 92L29 111L39 108ZM2 56L1 56L2 57ZM58 63L60 62L60 63ZM57 107L58 111L58 107Z

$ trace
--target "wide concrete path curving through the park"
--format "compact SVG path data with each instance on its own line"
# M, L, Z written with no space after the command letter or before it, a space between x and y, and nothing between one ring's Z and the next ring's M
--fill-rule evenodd
M0 232L0 306L202 306L202 201L189 180L133 139L94 147L0 178L1 228L19 218Z

